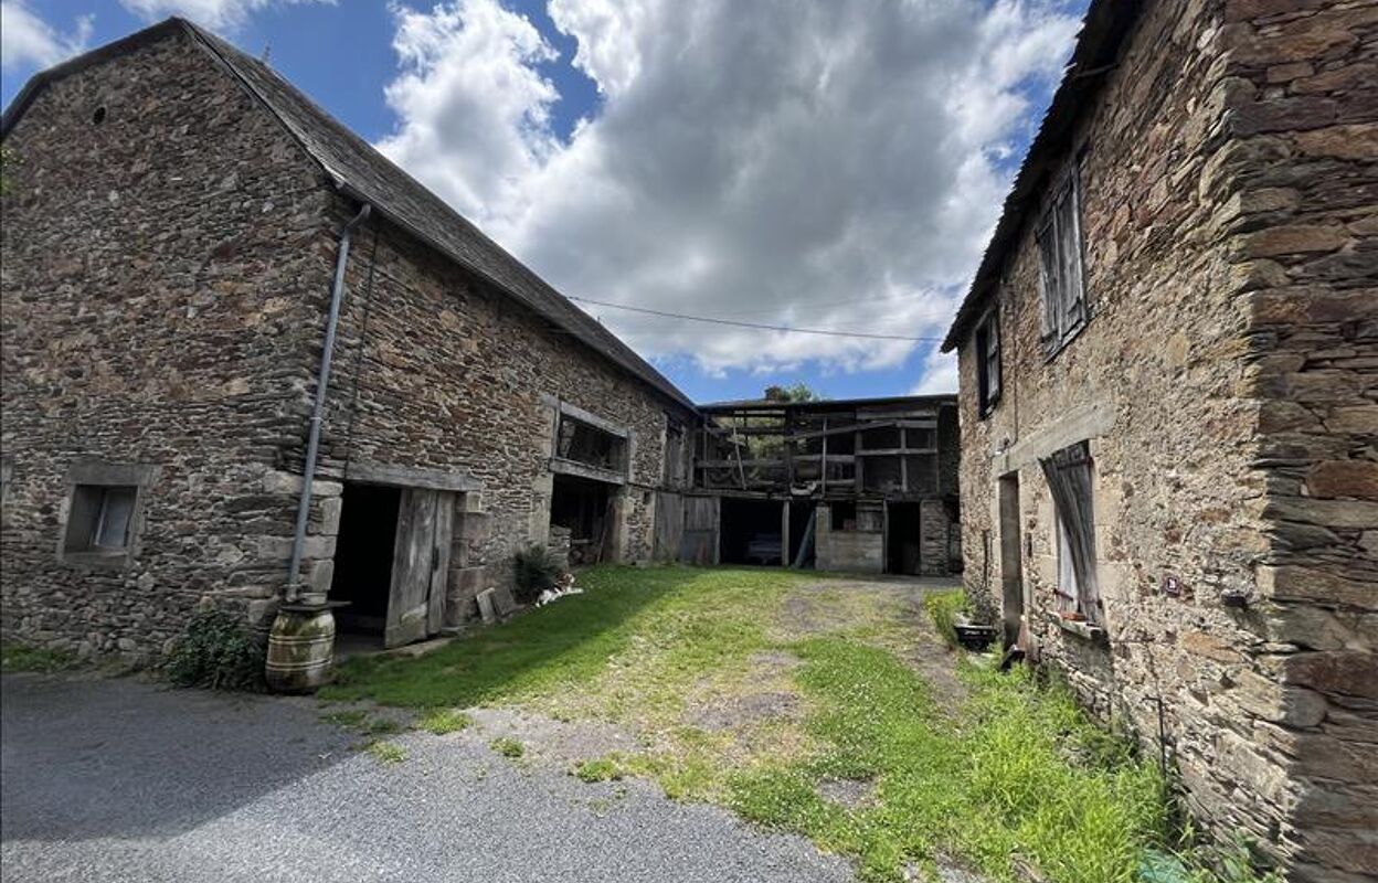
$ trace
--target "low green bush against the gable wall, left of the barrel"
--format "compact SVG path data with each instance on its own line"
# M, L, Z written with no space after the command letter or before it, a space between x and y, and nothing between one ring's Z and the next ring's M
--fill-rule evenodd
M263 643L226 610L197 610L164 664L183 687L262 692Z

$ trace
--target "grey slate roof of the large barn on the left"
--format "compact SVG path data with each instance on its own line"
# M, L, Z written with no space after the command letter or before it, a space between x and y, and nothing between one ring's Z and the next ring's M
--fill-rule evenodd
M6 109L0 134L10 132L10 128L45 84L178 32L186 33L194 43L205 47L218 58L244 88L300 142L342 193L361 202L372 204L375 212L382 214L470 273L486 280L513 300L562 328L576 340L650 384L674 402L693 409L693 402L664 375L652 368L597 320L573 306L564 295L508 255L444 200L311 102L271 67L186 19L169 18L34 74Z

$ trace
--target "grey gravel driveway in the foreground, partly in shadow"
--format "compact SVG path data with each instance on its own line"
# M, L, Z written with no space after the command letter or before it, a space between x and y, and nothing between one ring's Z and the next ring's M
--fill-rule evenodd
M0 864L23 880L850 880L850 865L642 782L464 734L383 765L310 700L3 679Z

